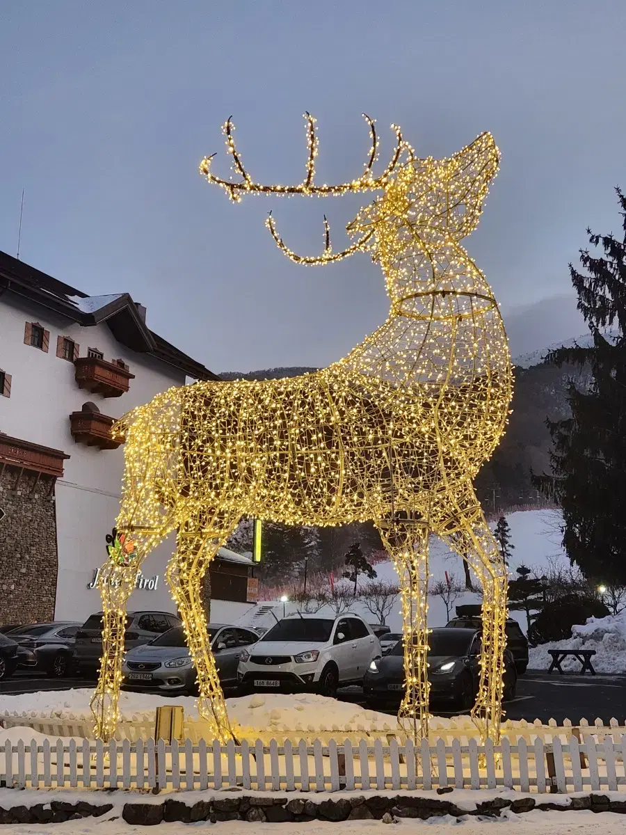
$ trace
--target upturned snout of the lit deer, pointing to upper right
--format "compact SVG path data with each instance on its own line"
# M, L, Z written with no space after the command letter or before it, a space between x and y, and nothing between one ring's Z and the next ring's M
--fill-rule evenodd
M449 211L447 228L457 240L478 225L489 184L497 174L500 152L492 134L481 134L444 161Z

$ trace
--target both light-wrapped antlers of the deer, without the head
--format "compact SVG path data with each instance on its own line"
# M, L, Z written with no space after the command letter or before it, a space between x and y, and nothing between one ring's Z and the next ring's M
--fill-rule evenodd
M212 154L210 157L204 157L199 166L200 173L206 177L209 183L220 185L220 187L228 193L230 199L235 200L235 202L239 201L241 197L246 194L282 196L316 195L317 197L331 197L361 191L385 191L393 181L391 179L391 175L398 167L402 152L405 151L408 158L413 159L413 150L411 149L411 146L406 143L404 139L402 139L400 128L398 128L395 124L392 124L391 129L396 134L396 148L391 155L391 160L386 166L386 169L381 175L375 177L372 174L372 167L378 158L379 140L376 135L374 119L370 119L369 116L363 114L363 118L366 119L366 122L370 127L371 134L371 148L363 174L361 174L360 177L356 177L355 180L350 180L339 185L327 185L326 183L324 185L317 185L315 183L315 174L319 141L317 139L316 119L314 119L309 113L305 113L304 118L306 121L306 144L308 148L308 158L306 160L305 179L300 183L300 185L261 185L260 183L255 183L245 170L241 161L241 156L235 147L235 126L231 119L228 119L228 121L225 122L222 127L222 131L226 138L226 150L233 158L233 167L241 176L240 182L223 180L211 172L210 166L215 154ZM271 212L270 216L265 221L265 225L270 230L270 233L276 244L280 247L280 250L283 251L285 255L291 259L291 261L295 261L297 264L305 264L306 266L320 266L328 264L332 261L341 261L342 258L351 256L358 251L365 251L371 247L373 244L372 239L376 231L376 224L371 220L366 219L365 215L363 215L361 221L360 218L361 213L346 227L346 229L351 236L355 236L357 233L361 232L361 237L346 250L333 252L331 247L331 229L325 215L324 252L321 256L299 256L295 252L291 251L276 231L275 220L272 217Z

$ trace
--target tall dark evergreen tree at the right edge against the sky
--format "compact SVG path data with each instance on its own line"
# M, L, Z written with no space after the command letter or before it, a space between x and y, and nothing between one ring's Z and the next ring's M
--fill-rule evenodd
M553 438L552 474L535 478L538 488L563 509L563 546L588 578L626 583L626 195L618 189L623 240L596 235L603 256L580 253L585 272L570 265L578 309L593 334L590 347L559 348L548 361L587 365L588 388L571 382L572 417L548 421ZM615 337L603 331L617 326Z

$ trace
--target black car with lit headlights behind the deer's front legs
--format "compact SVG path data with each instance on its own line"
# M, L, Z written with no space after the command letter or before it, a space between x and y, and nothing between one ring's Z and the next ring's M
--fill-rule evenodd
M478 691L481 633L474 629L434 629L428 635L428 681L431 701L448 701L469 710ZM504 700L515 698L517 671L509 650L505 651ZM402 641L388 655L371 662L363 681L367 704L379 707L399 702L404 695L404 650Z

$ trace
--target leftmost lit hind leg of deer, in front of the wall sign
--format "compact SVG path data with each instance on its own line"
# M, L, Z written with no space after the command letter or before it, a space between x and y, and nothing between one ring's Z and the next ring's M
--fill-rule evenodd
M102 598L102 657L98 684L93 693L90 707L93 714L94 734L97 739L109 741L119 721L119 689L122 684L122 660L124 659L124 632L126 630L126 608L134 590L137 573L149 552L164 539L173 524L162 529L134 529L128 526L119 531L124 534L124 545L131 542L134 551L124 554L122 549L114 552L103 564L98 575L98 589Z

